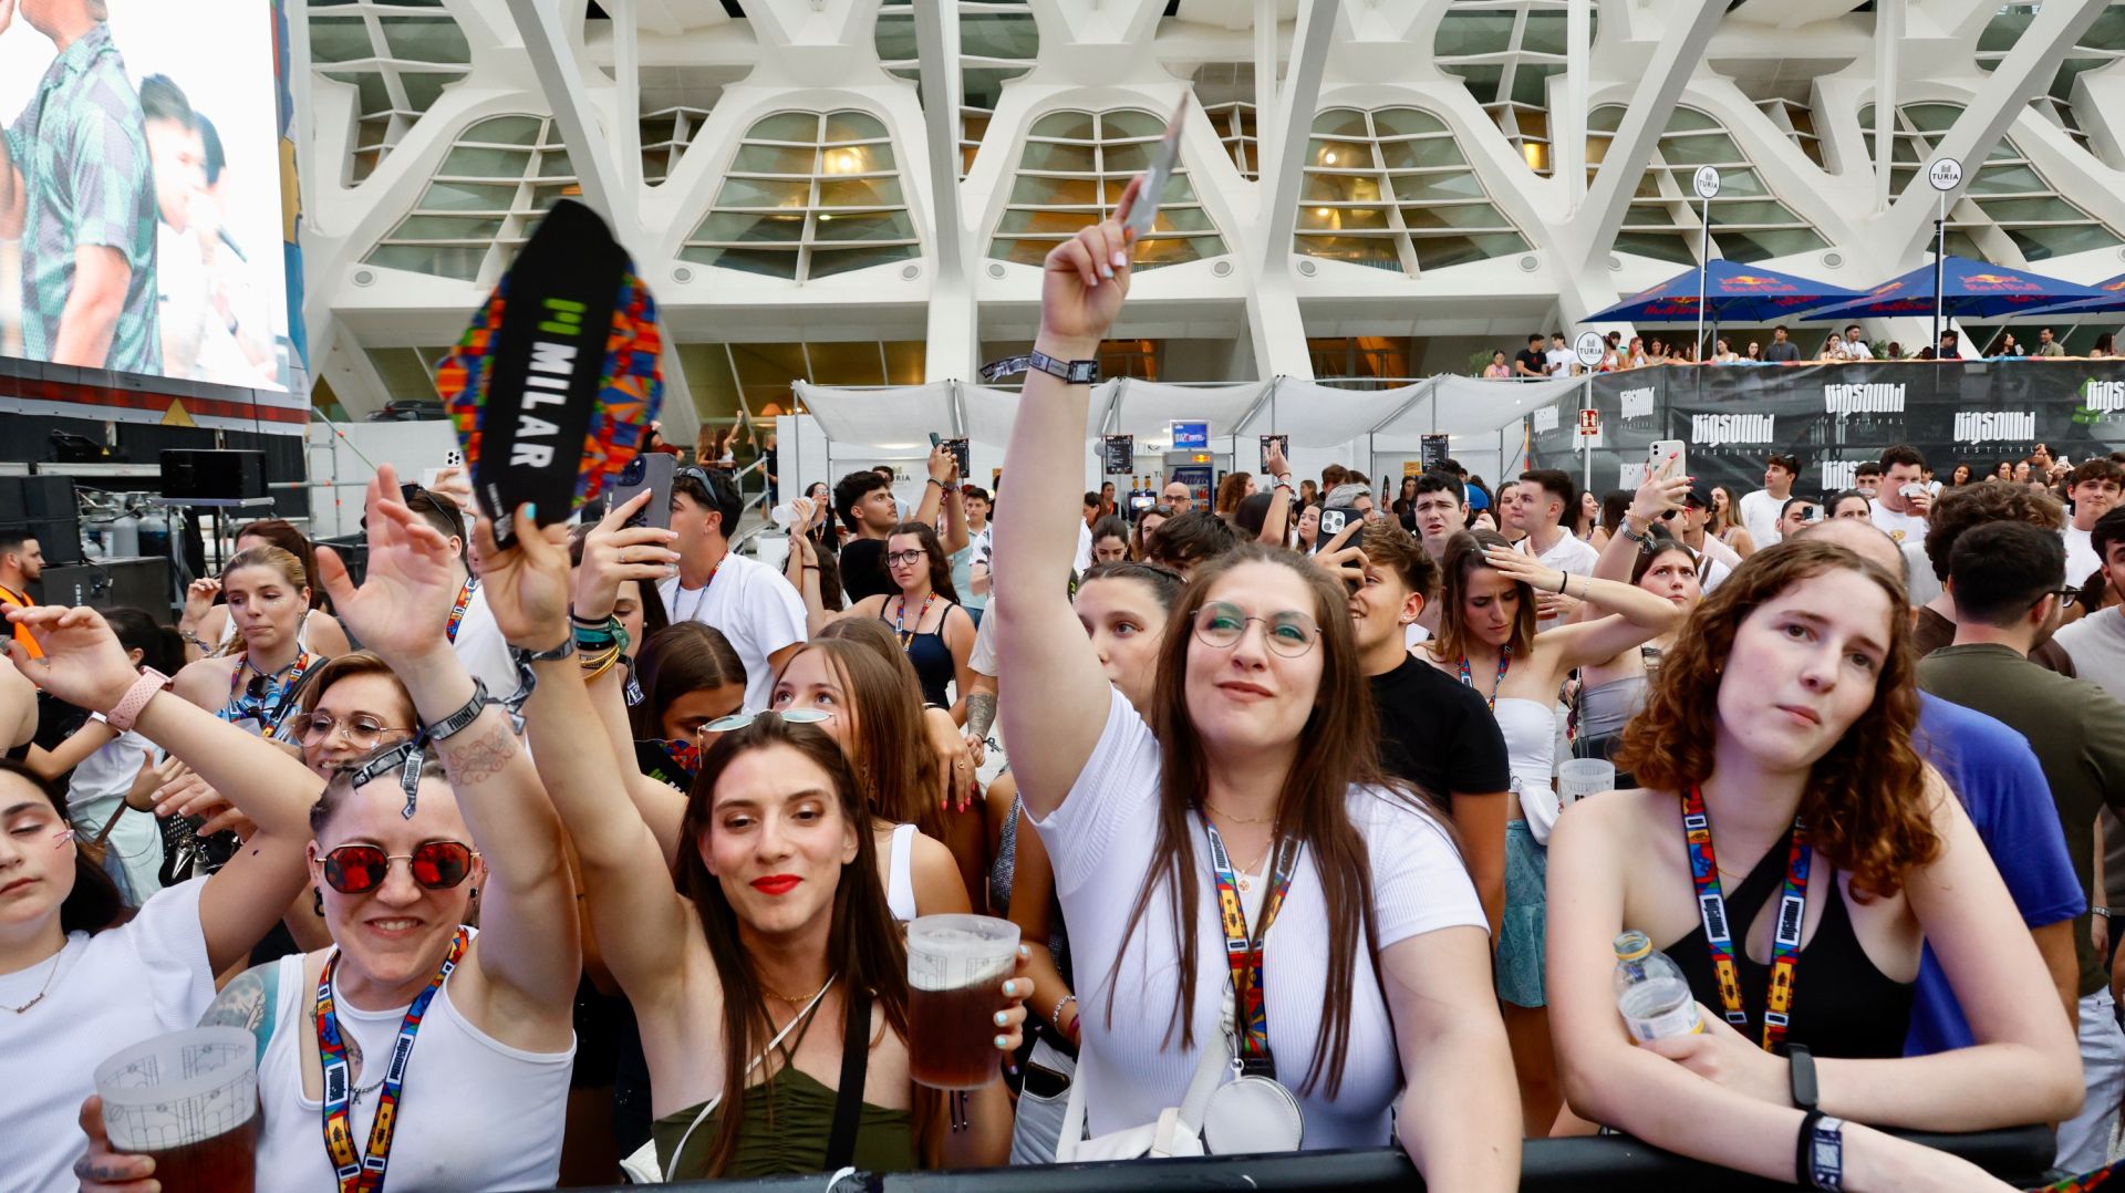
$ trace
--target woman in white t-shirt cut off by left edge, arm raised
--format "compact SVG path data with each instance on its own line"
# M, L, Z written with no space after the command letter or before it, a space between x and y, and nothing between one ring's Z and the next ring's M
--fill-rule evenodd
M0 1140L8 1189L74 1189L94 1176L76 1119L91 1106L100 1057L191 1027L215 974L240 963L304 883L304 814L317 780L255 734L225 725L142 672L89 608L8 615L42 651L15 666L113 729L172 749L255 821L221 872L178 883L128 912L81 848L66 797L19 763L0 763ZM68 1170L68 1165L74 1165Z

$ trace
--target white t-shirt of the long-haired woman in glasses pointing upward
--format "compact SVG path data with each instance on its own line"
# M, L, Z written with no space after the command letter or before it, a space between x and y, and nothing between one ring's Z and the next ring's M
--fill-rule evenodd
M1077 1002L1084 1006L1077 1080L1086 1082L1086 1121L1094 1136L1150 1123L1167 1106L1179 1106L1201 1061L1198 1048L1216 1040L1222 995L1230 985L1216 885L1209 880L1209 848L1201 831L1190 834L1194 866L1203 876L1194 908L1194 1048L1184 1051L1177 1031L1167 1046L1169 1008L1179 999L1171 885L1154 889L1124 953L1124 925L1143 874L1152 868L1152 844L1158 838L1158 766L1160 749L1152 729L1128 700L1114 693L1099 746L1086 759L1067 802L1035 825L1054 859L1056 897L1069 919ZM1383 948L1443 927L1485 927L1475 885L1430 817L1368 787L1352 787L1347 806L1371 853L1371 914ZM1109 1025L1107 972L1116 955L1122 957L1122 968ZM1298 1093L1313 1068L1313 1040L1324 1014L1322 989L1328 982L1328 912L1311 851L1300 853L1284 910L1269 931L1262 968L1271 1048L1279 1057L1279 1076ZM1377 1148L1390 1142L1390 1108L1402 1087L1402 1068L1366 948L1358 948L1352 991L1341 1097L1326 1102L1326 1085L1311 1095L1298 1093L1309 1148Z

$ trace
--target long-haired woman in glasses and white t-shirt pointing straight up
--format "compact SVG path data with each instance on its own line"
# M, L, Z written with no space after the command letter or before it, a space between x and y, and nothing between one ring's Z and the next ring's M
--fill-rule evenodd
M1048 255L1035 338L1048 357L1099 355L1128 291L1122 221L1139 187ZM1511 1189L1519 1108L1483 908L1424 797L1377 774L1347 591L1258 544L1198 568L1139 717L1069 604L1088 396L1026 374L997 638L1012 770L1075 951L1090 1133L1182 1106L1205 1051L1226 1048L1228 982L1245 982L1266 1029L1247 1016L1243 1061L1250 1076L1269 1061L1296 1095L1296 1146L1398 1138L1432 1187ZM1245 942L1220 927L1235 919ZM1258 965L1228 965L1256 940Z

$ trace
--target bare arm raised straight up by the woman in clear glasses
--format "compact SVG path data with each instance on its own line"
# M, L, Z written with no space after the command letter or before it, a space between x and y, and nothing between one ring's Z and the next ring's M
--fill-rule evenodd
M1041 330L1033 347L1054 359L1092 359L1128 296L1122 219L1141 187L1122 191L1114 217L1048 253ZM1035 819L1046 817L1092 757L1107 723L1109 687L1069 604L1084 489L1084 425L1090 385L1026 372L1003 472L1012 500L997 508L997 657L1005 661L1003 736ZM1020 695L1012 700L1012 693Z

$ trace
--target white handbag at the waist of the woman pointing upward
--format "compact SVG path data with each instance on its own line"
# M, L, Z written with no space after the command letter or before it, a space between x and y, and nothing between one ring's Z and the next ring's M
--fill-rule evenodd
M1224 989L1218 1042L1203 1048L1203 1061L1196 1063L1182 1104L1167 1106L1156 1121L1084 1138L1086 1082L1080 1068L1069 1087L1069 1108L1062 1112L1056 1163L1298 1150L1305 1116L1292 1091L1266 1076L1235 1076L1220 1085L1218 1078L1228 1068L1239 1070L1239 1059L1232 1055L1230 985Z

